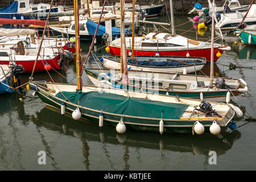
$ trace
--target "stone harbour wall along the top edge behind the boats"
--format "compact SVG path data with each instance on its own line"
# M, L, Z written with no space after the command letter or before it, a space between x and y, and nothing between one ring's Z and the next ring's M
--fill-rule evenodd
M9 5L11 2L13 2L13 0L1 0L0 1L0 7L5 7L7 5ZM80 1L79 1L80 2ZM100 0L100 5L103 4L103 0ZM119 0L108 0L106 5L113 5L115 4L115 2L120 2ZM131 3L131 0L126 0L125 2L127 3ZM197 1L190 1L190 0L172 0L173 3L173 9L174 9L174 14L187 14L187 12L189 10L191 10L193 8L193 6L197 3L201 3L201 5L203 7L207 7L208 6L208 1L207 0L197 0ZM215 3L217 6L222 6L223 3L225 2L225 0L216 0ZM51 0L34 0L34 3L51 3ZM159 4L159 3L164 3L168 9L168 11L170 11L170 1L169 0L138 0L137 1L138 5L148 5L150 3L153 4ZM251 0L240 0L241 5L250 5ZM256 4L256 1L254 2ZM73 6L73 0L54 0L53 1L53 5L66 5L66 6Z

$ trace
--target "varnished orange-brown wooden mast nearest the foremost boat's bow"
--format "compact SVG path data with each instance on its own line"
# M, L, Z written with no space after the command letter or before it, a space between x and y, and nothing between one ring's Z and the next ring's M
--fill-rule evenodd
M77 90L82 90L82 69L80 56L80 40L79 40L79 5L77 0L74 0L74 14L75 14L75 36L76 36L76 80Z

